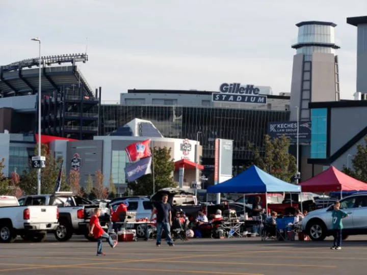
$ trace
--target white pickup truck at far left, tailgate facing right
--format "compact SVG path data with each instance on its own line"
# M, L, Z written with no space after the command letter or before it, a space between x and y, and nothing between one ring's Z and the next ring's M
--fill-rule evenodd
M43 241L58 227L56 206L20 206L11 196L0 196L0 242L13 242L17 235L24 240Z

